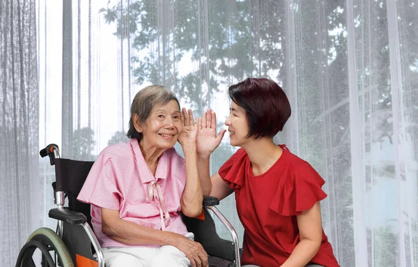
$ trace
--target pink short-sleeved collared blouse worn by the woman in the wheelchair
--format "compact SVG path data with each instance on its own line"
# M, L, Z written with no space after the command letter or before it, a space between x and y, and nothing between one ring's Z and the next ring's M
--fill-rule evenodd
M185 236L187 228L178 213L185 174L185 160L170 148L160 156L153 176L137 139L131 139L104 148L77 199L91 204L91 223L102 247L131 245L102 233L100 208L118 210L123 220Z

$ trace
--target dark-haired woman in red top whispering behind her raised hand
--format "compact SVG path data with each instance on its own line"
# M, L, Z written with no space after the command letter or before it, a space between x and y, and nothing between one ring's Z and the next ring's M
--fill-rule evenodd
M323 231L320 201L323 178L308 162L273 142L291 116L284 91L271 79L249 78L229 87L225 125L232 146L241 148L210 177L209 156L217 135L208 110L199 120L198 161L203 194L224 199L235 192L245 229L245 266L339 266Z

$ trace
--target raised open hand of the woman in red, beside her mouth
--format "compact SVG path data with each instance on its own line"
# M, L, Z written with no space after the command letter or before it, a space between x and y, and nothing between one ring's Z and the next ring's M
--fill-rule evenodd
M208 156L221 144L226 130L221 130L217 134L216 114L210 109L207 112L203 112L202 118L198 119L196 124L198 128L196 140L197 154Z

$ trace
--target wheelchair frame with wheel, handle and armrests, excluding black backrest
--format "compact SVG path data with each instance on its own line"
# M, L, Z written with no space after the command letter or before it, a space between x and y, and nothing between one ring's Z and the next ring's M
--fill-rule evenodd
M61 158L59 153L59 147L56 144L49 144L46 148L43 148L40 151L40 156L42 158L49 156L49 162L51 165L55 165L55 159ZM24 266L23 264L32 263L33 260L31 259L32 254L36 248L38 248L42 252L42 266L64 266L64 267L72 267L76 266L77 261L75 261L76 256L81 256L79 254L72 255L68 252L67 247L65 246L65 243L63 240L65 239L65 227L78 227L81 225L82 229L84 230L86 236L88 236L88 240L91 243L91 247L93 248L95 255L93 257L93 251L91 251L91 255L86 259L90 259L89 257L93 257L94 261L97 262L98 267L104 267L104 256L102 252L102 248L100 247L100 243L98 242L98 239L95 237L95 234L93 232L93 229L91 229L90 225L88 224L88 220L86 216L83 213L79 213L77 211L72 211L68 208L65 208L65 191L56 190L55 188L55 182L53 183L54 187L54 204L56 204L56 208L52 208L48 215L49 218L56 219L57 222L57 229L56 233L52 231L49 228L40 228L33 232L33 234L29 237L28 242L22 247L22 250L20 250L19 256L17 258L17 267ZM202 243L203 248L205 248L206 252L208 252L208 255L217 257L217 254L222 253L222 250L224 250L224 247L233 247L233 255L228 257L228 261L232 262L232 265L229 264L229 266L235 266L240 267L240 247L239 247L239 241L238 241L238 234L236 233L235 229L233 228L232 224L225 218L225 216L218 210L216 205L219 204L219 200L216 197L204 197L203 199L203 210L206 215L210 218L211 222L204 222L206 225L209 223L213 224L213 220L211 216L209 215L208 211L206 209L209 209L212 211L217 218L224 224L224 227L228 229L229 234L231 234L232 238L232 244L231 241L225 241L219 236L216 236L215 241L222 241L222 245L217 246L211 246L210 250L206 250L206 247L204 245L204 240ZM183 216L183 219L189 222L189 225L191 227L187 226L187 229L196 229L196 227L201 224L203 225L203 222L200 219L196 218L187 218ZM213 224L213 227L215 227L215 224ZM74 231L75 229L71 229L71 231ZM80 229L77 229L77 231L80 231ZM201 231L202 232L202 231ZM204 231L203 231L204 232ZM203 234L204 235L204 234ZM195 234L196 237L196 234ZM210 236L212 238L212 236ZM212 238L213 239L213 238ZM68 244L70 245L70 244ZM49 254L50 250L54 250L55 252L55 261L53 261L51 254ZM72 252L72 248L70 247L70 251ZM83 256L82 256L83 257ZM70 260L69 260L70 259ZM54 265L52 265L52 262ZM26 266L26 265L25 265ZM92 266L92 265L88 265ZM217 265L216 265L217 266Z

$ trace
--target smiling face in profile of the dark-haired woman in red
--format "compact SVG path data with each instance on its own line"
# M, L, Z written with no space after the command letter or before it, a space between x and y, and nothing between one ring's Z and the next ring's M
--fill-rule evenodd
M225 125L228 126L231 146L242 146L248 140L247 112L233 101L231 101L229 110L229 117L226 119Z

